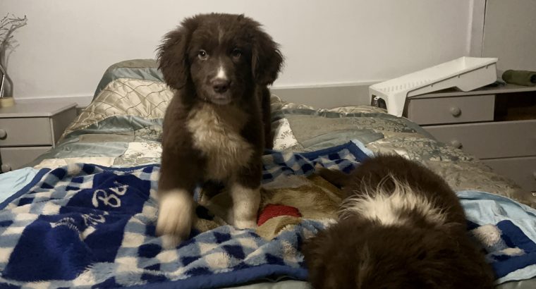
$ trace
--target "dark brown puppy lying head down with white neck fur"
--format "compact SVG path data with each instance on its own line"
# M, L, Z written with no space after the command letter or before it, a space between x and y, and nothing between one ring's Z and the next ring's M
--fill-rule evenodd
M377 156L345 175L339 221L307 240L314 288L493 288L466 233L458 198L435 173L401 156Z

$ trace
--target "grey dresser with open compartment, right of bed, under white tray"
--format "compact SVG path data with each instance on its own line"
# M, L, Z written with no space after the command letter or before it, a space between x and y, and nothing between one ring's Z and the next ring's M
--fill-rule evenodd
M405 116L536 191L536 87L505 85L411 97Z

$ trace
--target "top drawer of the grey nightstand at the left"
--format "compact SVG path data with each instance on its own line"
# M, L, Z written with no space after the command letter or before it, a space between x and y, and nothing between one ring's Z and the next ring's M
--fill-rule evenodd
M0 118L0 147L52 145L50 118Z

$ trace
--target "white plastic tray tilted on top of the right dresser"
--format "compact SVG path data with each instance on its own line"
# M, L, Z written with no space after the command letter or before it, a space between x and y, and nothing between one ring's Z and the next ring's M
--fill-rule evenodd
M461 57L369 87L373 102L383 99L387 112L402 116L406 98L450 87L467 92L497 80L496 58Z

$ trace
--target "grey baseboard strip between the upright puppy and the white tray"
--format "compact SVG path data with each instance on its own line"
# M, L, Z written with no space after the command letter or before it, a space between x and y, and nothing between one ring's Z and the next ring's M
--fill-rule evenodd
M370 104L368 87L377 82L344 83L338 85L315 85L303 87L272 87L286 102L307 104L317 108Z

